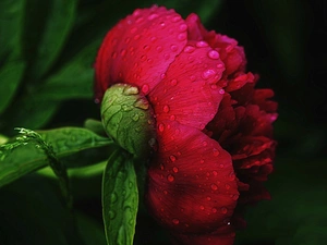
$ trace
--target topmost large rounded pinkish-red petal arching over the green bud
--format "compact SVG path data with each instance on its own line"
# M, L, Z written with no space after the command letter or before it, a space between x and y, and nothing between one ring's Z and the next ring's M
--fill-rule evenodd
M106 36L98 52L96 98L114 83L137 85L147 95L187 41L187 26L173 10L138 9Z

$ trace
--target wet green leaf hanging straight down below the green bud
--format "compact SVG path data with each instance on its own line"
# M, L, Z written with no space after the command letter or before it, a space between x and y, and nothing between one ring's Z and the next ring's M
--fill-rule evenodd
M132 245L138 192L131 158L121 150L108 160L102 181L102 216L108 245Z

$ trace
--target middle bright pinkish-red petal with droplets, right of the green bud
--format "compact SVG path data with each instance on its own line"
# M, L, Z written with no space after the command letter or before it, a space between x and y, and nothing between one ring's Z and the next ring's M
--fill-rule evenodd
M204 41L189 41L149 94L157 121L175 120L203 130L223 97L223 89L216 85L223 70L217 51Z

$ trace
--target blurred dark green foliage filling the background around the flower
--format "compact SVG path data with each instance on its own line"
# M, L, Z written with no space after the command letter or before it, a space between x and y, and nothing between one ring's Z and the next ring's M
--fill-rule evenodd
M183 16L198 13L205 26L234 37L245 48L249 70L261 74L258 86L276 91L279 147L267 184L272 200L250 208L249 228L239 232L237 244L325 244L325 0L1 0L0 142L16 126L82 126L85 119L99 118L93 63L101 39L135 8L154 3ZM1 244L105 244L101 174L84 173L71 175L75 220L49 174L32 174L1 188ZM75 238L72 222L81 233ZM137 223L135 244L166 244L165 233L143 209Z

